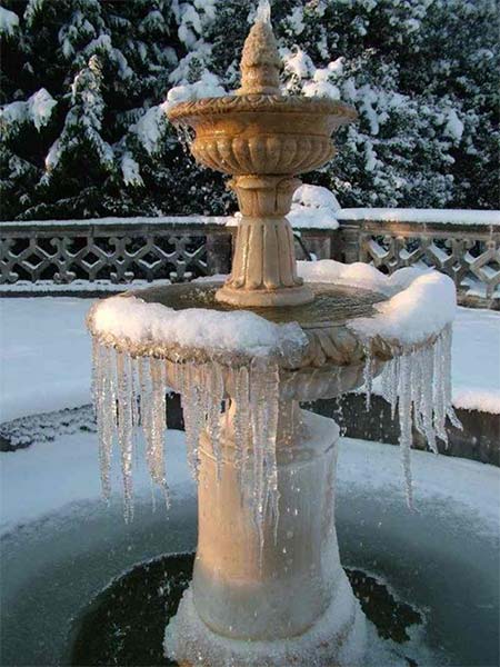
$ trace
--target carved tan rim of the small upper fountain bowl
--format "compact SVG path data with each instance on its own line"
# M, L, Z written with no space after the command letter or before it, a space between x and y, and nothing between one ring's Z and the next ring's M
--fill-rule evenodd
M239 112L328 115L338 117L339 125L358 118L353 107L339 100L281 94L227 94L190 100L171 107L167 116L174 125L189 125L193 118Z

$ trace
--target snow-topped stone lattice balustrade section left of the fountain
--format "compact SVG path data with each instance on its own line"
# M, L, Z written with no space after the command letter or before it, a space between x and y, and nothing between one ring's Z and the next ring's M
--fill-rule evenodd
M120 286L226 272L231 252L226 223L227 218L199 216L3 222L1 283Z

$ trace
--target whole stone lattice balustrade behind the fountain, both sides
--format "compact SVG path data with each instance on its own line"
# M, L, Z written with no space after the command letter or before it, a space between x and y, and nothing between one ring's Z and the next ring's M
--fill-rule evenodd
M339 229L296 231L297 255L372 262L389 273L432 266L453 278L461 302L500 308L500 213L456 212L450 222L453 211L341 209ZM201 216L2 222L0 293L112 290L224 273L230 222Z

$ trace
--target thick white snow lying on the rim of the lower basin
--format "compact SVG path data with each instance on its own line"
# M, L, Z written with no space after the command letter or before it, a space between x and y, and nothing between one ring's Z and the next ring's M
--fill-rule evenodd
M454 319L453 281L434 270L403 268L388 277L366 263L343 265L334 260L298 262L298 268L307 281L349 285L389 297L374 305L372 317L348 321L349 329L366 341L381 338L398 348L410 348L433 339ZM174 310L146 302L130 292L96 303L88 322L104 344L123 341L144 348L154 345L246 356L288 356L308 344L297 322L279 325L248 310Z

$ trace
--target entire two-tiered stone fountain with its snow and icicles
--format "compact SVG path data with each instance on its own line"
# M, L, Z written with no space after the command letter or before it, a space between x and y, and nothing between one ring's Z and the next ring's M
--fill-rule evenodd
M332 158L331 135L356 112L282 96L279 69L261 7L237 93L168 112L193 131L200 163L233 177L242 218L229 279L131 291L88 317L102 487L109 495L117 432L127 520L136 427L169 500L166 391L181 395L199 504L193 579L166 631L181 665L363 664L366 618L334 526L339 429L299 404L363 384L369 397L382 372L410 505L412 426L436 449L453 419L447 277L403 269L388 278L330 260L298 270L286 217L297 175Z

